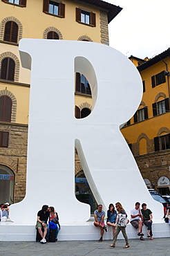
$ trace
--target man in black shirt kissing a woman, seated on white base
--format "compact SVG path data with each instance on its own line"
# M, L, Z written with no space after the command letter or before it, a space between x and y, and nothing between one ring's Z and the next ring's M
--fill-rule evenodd
M48 205L43 205L42 209L39 210L37 213L37 225L36 229L39 231L39 235L41 235L41 243L46 243L46 234L47 234L47 221L50 212L48 212ZM42 232L41 228L44 228L44 233Z

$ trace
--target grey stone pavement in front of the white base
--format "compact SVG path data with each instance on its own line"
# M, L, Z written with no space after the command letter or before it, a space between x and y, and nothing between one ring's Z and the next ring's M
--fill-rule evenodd
M57 241L56 243L40 244L35 241L0 241L0 255L170 255L169 238L155 238L153 241L145 239L129 239L130 248L122 248L124 240L117 240L115 248L109 248L111 241Z

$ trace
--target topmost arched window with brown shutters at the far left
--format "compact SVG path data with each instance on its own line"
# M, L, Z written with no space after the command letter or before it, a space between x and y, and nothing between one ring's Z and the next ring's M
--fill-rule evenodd
M6 22L3 40L17 43L17 37L18 37L17 23L15 21Z

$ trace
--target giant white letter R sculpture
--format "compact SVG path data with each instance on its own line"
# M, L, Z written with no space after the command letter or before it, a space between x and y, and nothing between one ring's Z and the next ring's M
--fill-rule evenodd
M23 67L31 68L28 166L26 197L11 205L11 219L35 221L44 204L55 206L60 222L89 219L90 206L75 198L75 146L105 210L120 201L130 212L140 201L162 217L120 132L142 98L140 74L131 61L90 42L21 39L19 51ZM93 111L83 119L74 116L75 72L91 84Z

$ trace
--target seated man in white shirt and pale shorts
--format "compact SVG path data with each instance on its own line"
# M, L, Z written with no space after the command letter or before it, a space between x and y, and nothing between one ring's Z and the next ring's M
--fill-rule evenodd
M140 236L140 240L144 240L143 236L144 234L142 233L142 226L143 226L143 217L142 213L140 211L140 203L136 202L135 203L135 208L131 210L131 225L134 228L138 228L138 236Z

